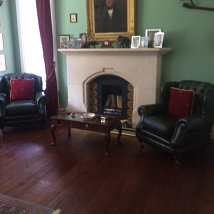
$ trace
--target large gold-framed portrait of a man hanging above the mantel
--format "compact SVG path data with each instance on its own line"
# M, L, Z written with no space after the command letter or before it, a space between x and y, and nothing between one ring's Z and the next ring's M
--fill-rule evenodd
M89 41L116 41L135 34L135 0L86 0Z

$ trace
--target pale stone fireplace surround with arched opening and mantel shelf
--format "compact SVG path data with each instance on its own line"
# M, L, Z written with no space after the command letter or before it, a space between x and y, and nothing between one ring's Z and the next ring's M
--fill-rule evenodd
M101 75L115 75L134 87L132 125L135 127L139 121L138 107L159 101L162 56L171 48L58 51L66 56L68 111L89 111L89 83Z

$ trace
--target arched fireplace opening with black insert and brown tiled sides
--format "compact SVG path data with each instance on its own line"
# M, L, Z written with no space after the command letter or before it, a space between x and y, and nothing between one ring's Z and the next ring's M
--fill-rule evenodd
M126 80L104 75L90 83L90 111L119 115L129 126L132 123L133 87Z

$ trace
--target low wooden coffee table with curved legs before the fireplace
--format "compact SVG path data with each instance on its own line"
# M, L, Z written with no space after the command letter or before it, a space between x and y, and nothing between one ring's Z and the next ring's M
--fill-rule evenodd
M93 113L71 113L69 115L55 115L51 119L51 134L53 142L51 145L56 144L55 130L57 125L65 126L68 128L68 136L71 135L71 128L83 129L88 131L105 133L106 151L105 154L109 155L109 145L111 141L110 132L113 129L118 130L117 141L120 145L120 136L122 126L118 116L93 114Z

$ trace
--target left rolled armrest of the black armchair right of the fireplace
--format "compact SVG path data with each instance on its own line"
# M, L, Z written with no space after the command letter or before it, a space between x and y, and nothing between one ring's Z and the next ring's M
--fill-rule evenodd
M142 105L138 108L138 115L140 117L157 115L157 114L165 114L165 113L167 113L166 104Z

